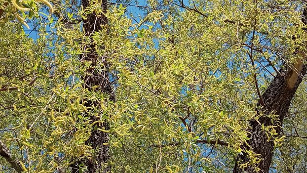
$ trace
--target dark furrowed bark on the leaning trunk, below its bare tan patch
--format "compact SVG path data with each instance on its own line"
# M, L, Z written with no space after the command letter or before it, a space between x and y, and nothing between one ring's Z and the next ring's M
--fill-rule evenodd
M303 67L301 73L306 74L306 66ZM298 77L297 82L295 83L293 88L287 87L287 82L285 76L287 74L286 71L281 70L281 74L284 76L277 75L273 82L269 85L265 93L262 95L262 99L265 103L265 106L262 109L257 109L256 111L260 113L261 111L265 111L265 114L270 114L272 112L275 115L278 115L279 122L282 123L285 115L288 112L290 102L301 84L303 78ZM257 104L260 106L260 101ZM252 151L255 154L260 154L258 158L262 159L257 165L249 165L244 169L241 169L236 162L233 173L253 173L255 167L260 168L260 172L268 173L269 166L271 163L271 159L273 156L273 140L268 141L266 132L262 130L262 124L264 126L277 126L276 133L280 133L280 126L278 122L271 123L271 119L269 117L261 117L257 122L256 120L250 121L250 129L248 129L251 134L248 136L250 140L248 140L248 144L252 147ZM242 149L251 149L246 144L242 146ZM249 158L247 153L243 152L243 155L238 155L237 161L241 161L241 164L249 162Z

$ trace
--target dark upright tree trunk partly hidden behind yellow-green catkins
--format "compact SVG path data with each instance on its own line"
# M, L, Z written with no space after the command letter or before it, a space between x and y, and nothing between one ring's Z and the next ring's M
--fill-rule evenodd
M91 0L81 0L82 6L86 9L91 5ZM102 8L103 11L106 12L107 9L107 0L102 0ZM115 97L113 94L113 90L111 87L111 83L109 81L108 74L108 64L106 64L106 57L98 56L95 51L95 44L92 42L91 36L94 32L100 31L102 29L101 26L106 25L108 23L108 19L102 16L96 16L94 12L87 14L86 19L82 19L83 21L83 29L85 31L85 36L89 37L91 42L83 47L83 50L87 49L88 52L80 55L80 61L89 61L91 63L91 67L87 70L87 74L82 78L84 88L88 90L94 90L97 92L104 92L110 95L109 101L115 101ZM104 69L96 69L98 64L103 64ZM101 67L101 65L100 65ZM94 86L99 86L95 87ZM85 100L86 101L86 100ZM98 102L93 102L91 100L87 101L86 107L99 107ZM97 121L98 119L92 117L92 122ZM104 128L105 130L109 130L109 125L107 122L100 125L99 128ZM77 164L72 166L72 172L78 173L78 169L80 164L84 164L87 167L86 173L109 173L111 172L111 167L107 166L106 163L110 158L109 146L106 144L109 142L109 134L106 132L102 132L99 130L92 130L91 136L85 142L87 145L91 146L95 151L93 158L88 160L78 161Z

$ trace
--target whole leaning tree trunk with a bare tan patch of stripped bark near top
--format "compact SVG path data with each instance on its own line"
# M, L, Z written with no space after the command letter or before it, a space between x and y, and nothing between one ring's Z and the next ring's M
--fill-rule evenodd
M306 25L307 10L304 9L302 22ZM306 57L306 54L303 52L297 51L296 54L300 57ZM250 165L246 168L240 168L240 164L245 164L249 162L249 157L246 152L239 154L233 169L233 173L253 173L255 168L259 168L260 173L269 173L269 166L273 156L274 143L273 140L267 138L266 132L262 130L262 124L266 126L277 126L275 128L278 135L281 131L281 125L285 115L287 114L290 102L298 89L299 85L303 81L303 76L306 74L307 66L303 64L302 60L298 60L295 64L288 67L288 70L280 70L280 75L276 75L272 83L269 85L267 90L262 95L262 100L264 103L263 108L256 109L257 113L264 113L269 115L274 113L278 115L278 122L271 123L271 119L266 116L262 116L258 122L256 120L250 120L250 128L248 131L250 140L247 141L248 145L243 144L241 148L243 150L252 150L257 156L261 159L260 163L256 165ZM300 75L298 75L300 74ZM261 105L259 100L257 106ZM275 137L277 137L276 135Z

